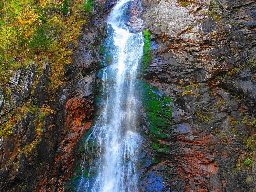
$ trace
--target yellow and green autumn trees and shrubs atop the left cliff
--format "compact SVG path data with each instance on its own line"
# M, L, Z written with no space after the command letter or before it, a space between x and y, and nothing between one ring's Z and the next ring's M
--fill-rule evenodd
M63 66L71 62L73 48L67 46L71 42L76 45L93 2L4 0L0 9L1 83L8 82L10 70L14 72L30 61L40 63L46 55L53 69L50 89L57 88L63 81Z

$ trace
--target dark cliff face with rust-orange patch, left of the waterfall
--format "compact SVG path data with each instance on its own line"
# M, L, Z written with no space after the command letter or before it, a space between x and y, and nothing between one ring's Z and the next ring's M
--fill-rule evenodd
M112 5L95 3L95 14L80 27L78 45L68 44L72 62L65 65L57 91L47 89L53 75L47 56L6 75L6 85L0 86L0 191L64 190L93 121L104 18Z

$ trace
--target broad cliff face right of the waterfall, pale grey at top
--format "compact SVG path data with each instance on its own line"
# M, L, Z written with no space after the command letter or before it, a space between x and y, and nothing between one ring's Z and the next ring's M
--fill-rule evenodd
M142 4L141 191L255 191L255 1Z

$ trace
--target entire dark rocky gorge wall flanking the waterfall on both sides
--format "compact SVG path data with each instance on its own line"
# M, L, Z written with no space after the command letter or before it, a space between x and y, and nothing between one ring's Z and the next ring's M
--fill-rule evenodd
M138 3L128 20L145 35L139 191L255 191L255 2L141 0L143 10ZM47 57L38 81L41 65L31 62L0 85L0 96L10 93L0 97L1 123L16 118L0 137L1 191L74 191L66 183L81 174L113 4L97 2L77 47L70 42L72 64L56 94L45 91Z

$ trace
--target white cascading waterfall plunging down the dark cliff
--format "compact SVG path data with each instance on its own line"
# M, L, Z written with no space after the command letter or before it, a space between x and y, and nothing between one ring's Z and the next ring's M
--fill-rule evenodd
M102 74L101 110L85 142L78 192L137 191L137 72L143 54L143 34L125 24L130 0L119 0L110 13L109 38ZM108 62L106 61L108 57ZM89 145L92 149L89 149Z

